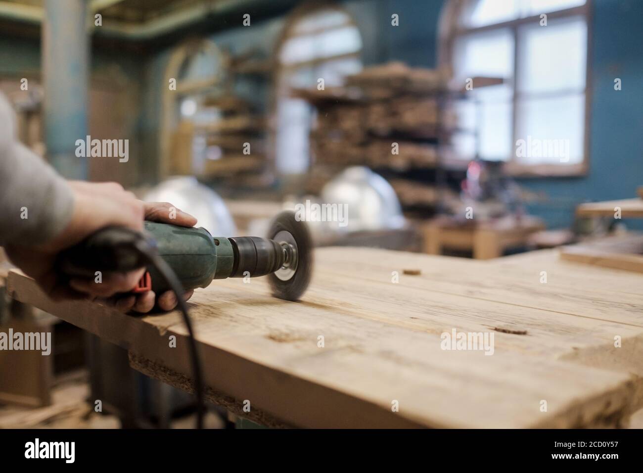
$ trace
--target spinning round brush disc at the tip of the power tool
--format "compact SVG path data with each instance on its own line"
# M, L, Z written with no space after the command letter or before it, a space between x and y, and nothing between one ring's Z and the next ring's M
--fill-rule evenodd
M287 261L268 275L273 295L286 301L297 301L311 282L312 239L308 226L294 218L294 212L281 212L273 220L267 237L282 245Z

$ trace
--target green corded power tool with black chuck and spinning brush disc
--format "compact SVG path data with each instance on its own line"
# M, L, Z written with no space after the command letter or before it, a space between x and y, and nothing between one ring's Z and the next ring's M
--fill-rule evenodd
M203 381L194 331L183 292L205 288L213 279L267 275L273 295L297 301L312 272L312 239L307 225L285 211L273 220L267 238L213 237L205 228L145 221L145 232L123 227L98 230L59 255L64 277L91 277L96 272L127 272L147 268L132 292L167 290L176 293L190 337L197 427L203 426Z

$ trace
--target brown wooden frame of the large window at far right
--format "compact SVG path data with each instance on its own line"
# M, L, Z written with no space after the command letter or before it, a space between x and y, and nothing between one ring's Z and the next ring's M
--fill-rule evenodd
M534 24L540 21L540 14L530 15L524 18L512 19L509 21L502 21L500 23L487 24L484 26L467 27L462 25L460 19L462 18L463 8L467 6L467 0L449 0L444 6L442 11L442 18L440 19L440 46L439 46L439 64L440 66L448 67L453 70L453 48L458 38L472 35L475 33L492 32L494 30L506 29L511 32L514 40L514 64L513 64L513 80L511 82L512 98L512 118L511 118L511 136L512 136L512 149L515 151L516 128L518 122L518 99L519 94L516 91L516 83L519 74L519 51L520 34L518 29L520 26L527 24ZM516 161L515 153L512 153L507 161L505 161L505 172L510 176L527 177L527 178L543 178L543 177L570 177L570 176L586 176L590 169L590 125L591 125L591 97L592 97L592 81L591 81L591 58L592 58L592 17L593 5L592 0L586 0L584 5L573 6L565 8L565 10L556 10L554 12L543 12L547 14L547 21L556 19L567 19L572 17L583 17L586 22L587 31L587 46L585 58L585 87L584 87L584 120L583 120L583 160L575 164L527 164ZM545 26L547 28L547 26ZM476 129L476 133L478 130ZM479 139L479 138L476 138ZM462 162L464 160L455 160ZM456 164L455 162L453 164ZM459 163L462 166L462 163Z

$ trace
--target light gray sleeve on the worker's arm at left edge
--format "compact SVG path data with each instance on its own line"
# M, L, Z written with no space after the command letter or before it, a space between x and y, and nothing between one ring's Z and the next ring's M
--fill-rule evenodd
M67 182L15 138L15 115L0 93L0 245L38 245L68 225Z

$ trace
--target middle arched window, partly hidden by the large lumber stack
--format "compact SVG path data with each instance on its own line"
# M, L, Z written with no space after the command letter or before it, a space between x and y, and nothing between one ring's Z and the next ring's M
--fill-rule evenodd
M277 50L275 165L279 174L302 174L310 162L314 110L293 88L338 86L361 70L361 35L347 12L333 5L304 5L285 26Z

